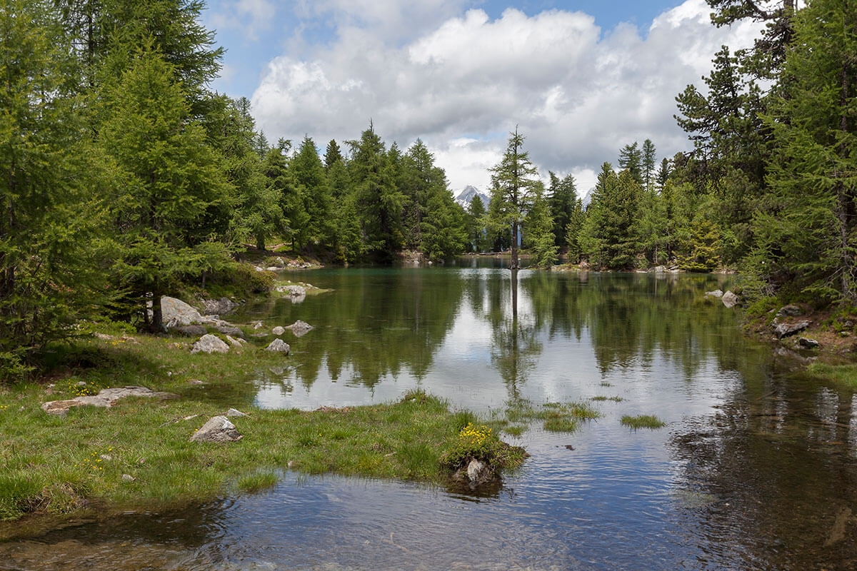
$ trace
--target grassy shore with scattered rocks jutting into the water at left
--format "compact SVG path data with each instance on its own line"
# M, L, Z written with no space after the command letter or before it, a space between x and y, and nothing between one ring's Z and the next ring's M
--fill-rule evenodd
M288 467L443 483L443 455L460 449L460 432L478 420L421 392L365 407L261 410L243 386L248 372L287 366L288 357L252 344L229 354L190 354L187 339L114 333L55 348L48 355L54 372L38 383L0 387L0 519L87 505L171 507L273 485ZM111 408L75 407L66 416L40 408L124 385L178 398L128 398ZM229 407L249 414L231 419L242 440L189 442ZM521 450L502 463L523 459Z

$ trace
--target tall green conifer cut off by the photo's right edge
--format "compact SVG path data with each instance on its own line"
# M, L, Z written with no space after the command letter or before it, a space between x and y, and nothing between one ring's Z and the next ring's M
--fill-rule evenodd
M857 3L813 0L794 17L788 81L767 126L772 208L758 249L814 299L857 304ZM776 276L777 270L784 276Z

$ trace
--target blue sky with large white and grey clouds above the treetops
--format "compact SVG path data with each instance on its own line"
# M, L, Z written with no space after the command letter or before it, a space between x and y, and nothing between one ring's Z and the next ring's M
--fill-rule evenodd
M704 0L211 0L219 92L247 97L268 140L375 132L423 140L450 189L485 190L510 131L543 178L585 194L627 143L690 149L675 96L752 23L716 28Z

